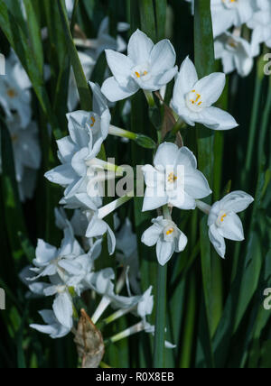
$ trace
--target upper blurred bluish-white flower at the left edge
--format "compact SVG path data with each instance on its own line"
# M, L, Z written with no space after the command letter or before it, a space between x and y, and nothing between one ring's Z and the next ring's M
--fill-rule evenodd
M12 112L19 115L22 128L25 128L31 121L30 87L30 80L22 64L12 53L5 60L5 76L0 77L0 105L8 119L12 118Z

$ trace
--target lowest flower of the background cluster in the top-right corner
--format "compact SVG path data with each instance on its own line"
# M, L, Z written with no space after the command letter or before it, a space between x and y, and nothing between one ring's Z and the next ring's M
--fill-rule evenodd
M225 74L237 69L241 77L247 77L254 64L251 46L245 39L225 32L215 41L215 57L221 59Z

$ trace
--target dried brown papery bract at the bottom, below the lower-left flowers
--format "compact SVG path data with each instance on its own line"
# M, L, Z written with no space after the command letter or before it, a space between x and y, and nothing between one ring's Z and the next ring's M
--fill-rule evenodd
M74 338L83 369L96 369L105 354L103 337L89 315L81 309L81 317Z

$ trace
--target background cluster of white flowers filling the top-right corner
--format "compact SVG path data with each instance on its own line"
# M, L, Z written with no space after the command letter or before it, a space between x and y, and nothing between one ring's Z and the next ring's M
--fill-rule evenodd
M187 1L194 6L193 0ZM222 60L226 74L237 70L241 77L247 77L260 45L271 48L270 0L211 0L210 5L216 59ZM250 41L248 33L242 33L244 26L252 32Z

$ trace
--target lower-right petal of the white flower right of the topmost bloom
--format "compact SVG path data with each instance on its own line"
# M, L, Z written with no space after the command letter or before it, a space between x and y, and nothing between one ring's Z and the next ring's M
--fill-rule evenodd
M238 127L238 123L232 115L218 107L208 107L201 112L202 123L213 130L231 130ZM204 120L213 122L206 124Z

